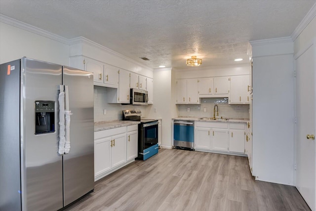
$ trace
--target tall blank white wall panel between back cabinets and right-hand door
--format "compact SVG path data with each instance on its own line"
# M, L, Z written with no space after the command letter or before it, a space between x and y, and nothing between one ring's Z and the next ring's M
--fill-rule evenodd
M251 44L252 173L257 180L293 185L293 42L279 39Z

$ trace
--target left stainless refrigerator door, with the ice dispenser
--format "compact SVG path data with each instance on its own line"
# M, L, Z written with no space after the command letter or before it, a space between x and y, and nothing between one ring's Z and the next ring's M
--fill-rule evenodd
M58 90L62 83L62 66L22 59L21 73L21 159L22 210L59 210L63 207L62 156L58 155L58 112L55 131L35 134L39 124L36 101L55 101L58 111ZM45 112L43 112L43 116ZM45 124L45 121L40 121ZM12 132L16 132L12 128Z

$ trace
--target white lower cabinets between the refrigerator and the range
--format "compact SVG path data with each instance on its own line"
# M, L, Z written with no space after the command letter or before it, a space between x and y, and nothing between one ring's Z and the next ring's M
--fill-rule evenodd
M137 157L138 125L94 132L94 180L129 164Z

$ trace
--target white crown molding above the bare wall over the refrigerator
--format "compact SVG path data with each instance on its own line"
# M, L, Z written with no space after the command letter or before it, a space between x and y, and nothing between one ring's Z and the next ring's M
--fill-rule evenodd
M37 35L40 35L40 36L43 36L45 38L52 39L52 40L57 41L57 42L62 42L64 44L69 43L68 39L66 39L66 38L63 38L61 36L55 35L53 33L42 30L38 27L32 26L32 25L24 23L22 21L18 21L16 19L10 18L10 17L2 15L2 14L0 14L0 22L17 27L17 28L20 28L22 30L25 30L25 31L28 31L28 32L31 32L31 33L34 33Z

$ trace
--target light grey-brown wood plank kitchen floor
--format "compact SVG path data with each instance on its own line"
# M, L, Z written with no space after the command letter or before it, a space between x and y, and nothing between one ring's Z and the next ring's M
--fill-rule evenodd
M255 181L245 157L160 149L95 183L67 211L309 211L293 186Z

